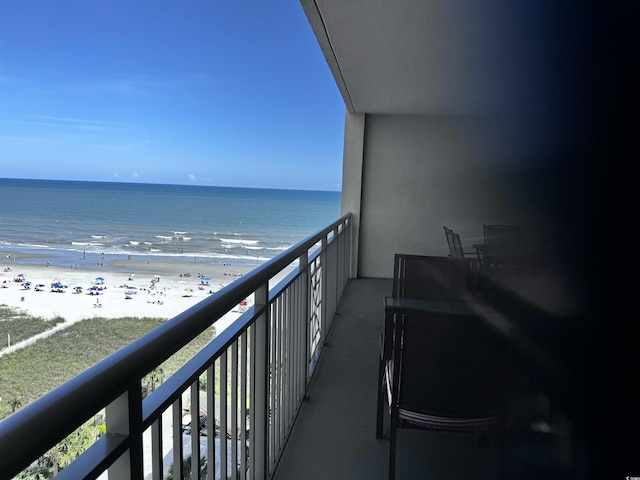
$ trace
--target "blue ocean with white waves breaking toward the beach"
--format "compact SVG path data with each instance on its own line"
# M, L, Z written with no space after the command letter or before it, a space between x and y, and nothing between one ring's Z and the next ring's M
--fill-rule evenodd
M21 263L255 265L339 216L340 192L0 178L0 249Z

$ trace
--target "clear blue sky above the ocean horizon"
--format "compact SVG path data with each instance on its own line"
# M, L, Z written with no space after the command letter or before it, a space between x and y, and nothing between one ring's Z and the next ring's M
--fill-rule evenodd
M0 0L0 176L339 190L297 0Z

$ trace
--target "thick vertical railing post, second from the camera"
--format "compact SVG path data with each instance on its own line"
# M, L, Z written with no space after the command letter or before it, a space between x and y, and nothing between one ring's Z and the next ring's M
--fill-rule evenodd
M256 319L255 329L255 436L252 448L255 452L255 471L253 478L268 478L268 436L269 436L269 284L266 283L255 292L255 308L263 308Z

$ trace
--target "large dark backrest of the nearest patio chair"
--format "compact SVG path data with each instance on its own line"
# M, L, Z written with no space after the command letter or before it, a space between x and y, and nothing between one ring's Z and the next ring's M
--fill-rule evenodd
M405 315L400 329L400 408L455 418L504 412L509 350L477 317Z

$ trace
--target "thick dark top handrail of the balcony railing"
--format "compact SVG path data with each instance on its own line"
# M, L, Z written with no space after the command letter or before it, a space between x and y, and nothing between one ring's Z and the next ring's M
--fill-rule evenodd
M26 468L25 461L32 461L46 452L127 392L144 375L211 326L212 318L222 318L350 218L350 213L342 216L0 421L0 452L3 452L0 472L12 475Z

